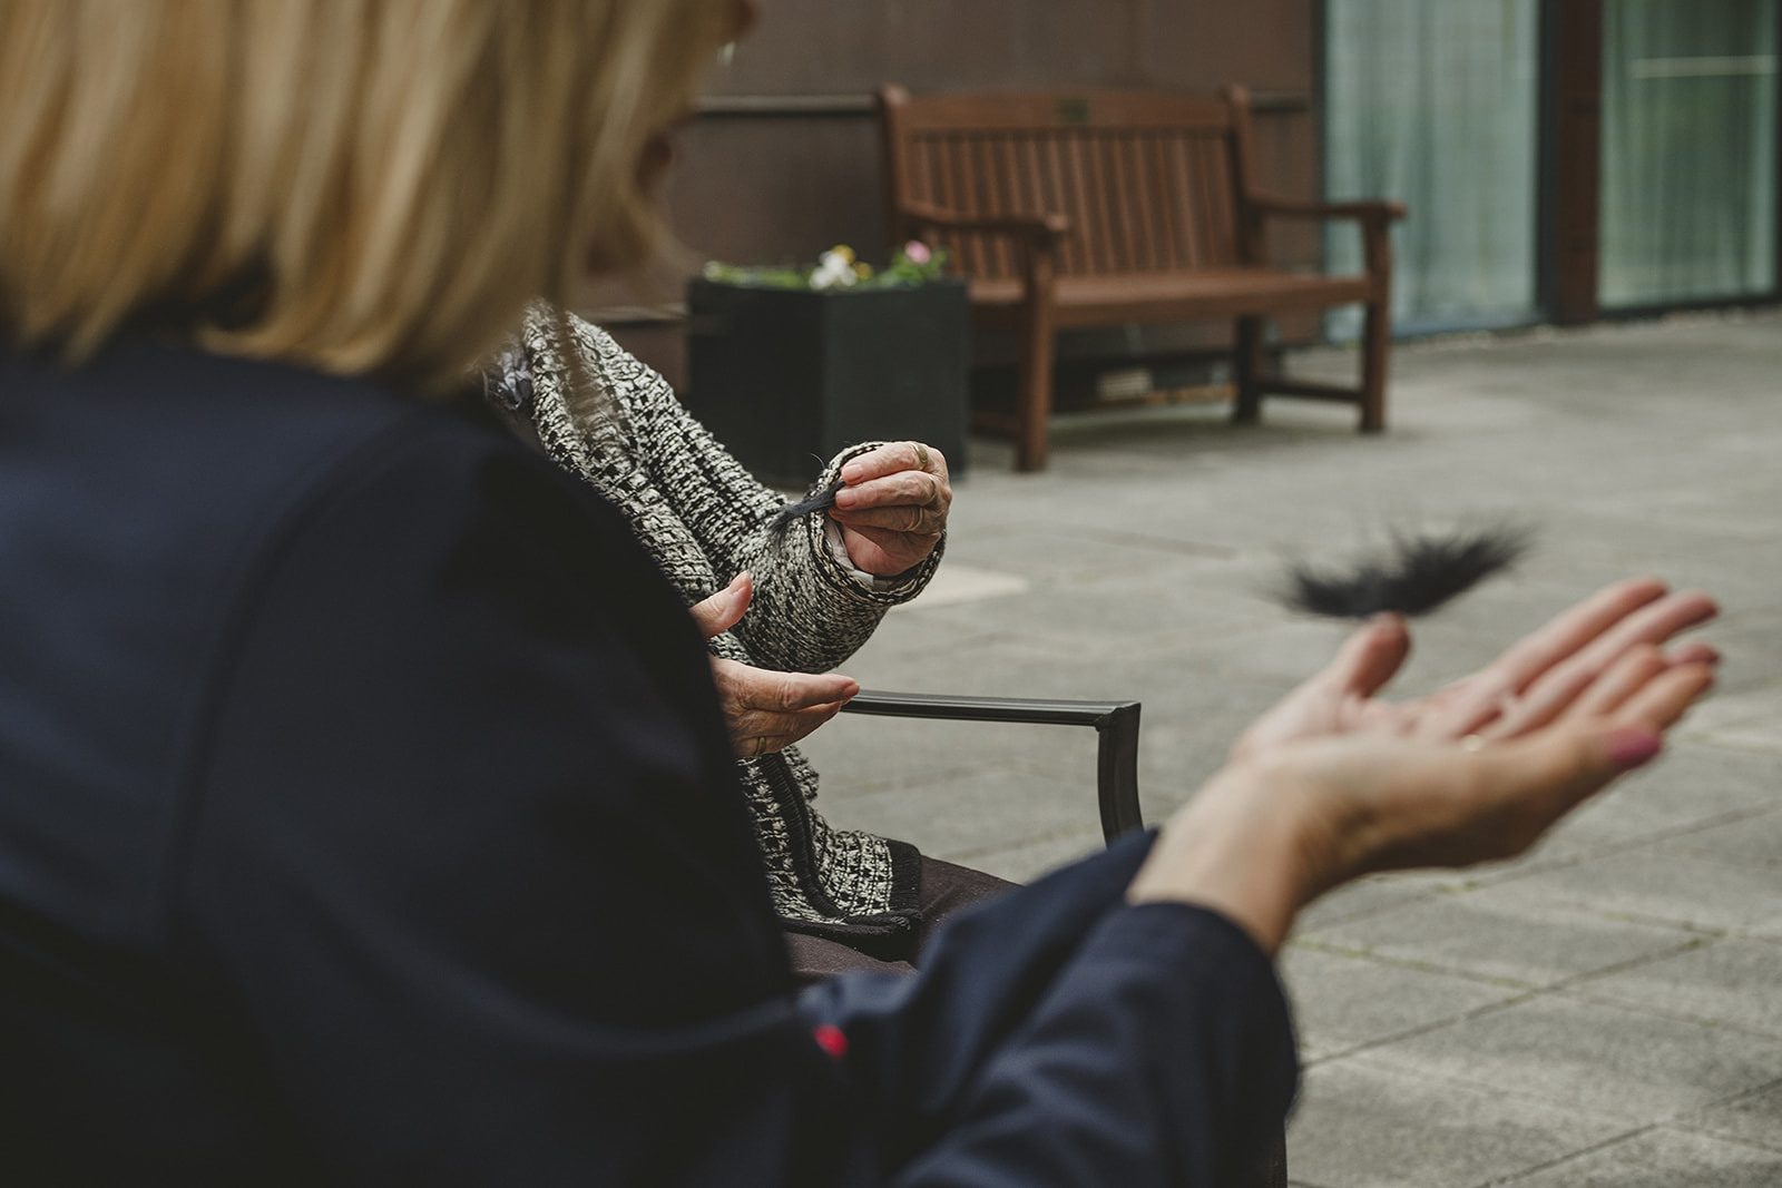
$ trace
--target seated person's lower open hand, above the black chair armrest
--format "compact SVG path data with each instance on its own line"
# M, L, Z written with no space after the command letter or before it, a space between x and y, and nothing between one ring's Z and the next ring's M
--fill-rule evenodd
M693 622L707 639L720 636L743 620L754 593L748 572L738 574L729 586L693 604ZM738 759L756 759L797 743L841 712L861 691L852 677L782 673L722 655L711 657L711 680L718 686L723 725Z

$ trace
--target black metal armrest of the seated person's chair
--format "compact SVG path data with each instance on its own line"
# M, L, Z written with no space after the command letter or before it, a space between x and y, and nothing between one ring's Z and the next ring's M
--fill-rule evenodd
M1101 835L1112 842L1121 834L1144 826L1144 816L1139 812L1139 702L1060 702L1025 696L946 696L861 689L852 702L841 707L841 712L1094 727L1098 736L1096 801L1101 807Z

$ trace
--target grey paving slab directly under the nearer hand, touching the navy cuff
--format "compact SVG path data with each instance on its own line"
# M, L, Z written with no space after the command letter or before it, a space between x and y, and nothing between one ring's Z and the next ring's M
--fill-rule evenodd
M1616 921L1584 908L1531 907L1492 887L1436 894L1365 919L1301 932L1322 946L1522 987L1547 987L1700 942L1688 932ZM1773 967L1775 955L1770 958Z

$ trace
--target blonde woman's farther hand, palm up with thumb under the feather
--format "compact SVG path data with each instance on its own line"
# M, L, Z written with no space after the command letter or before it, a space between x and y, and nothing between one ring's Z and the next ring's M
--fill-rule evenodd
M1411 636L1397 614L1379 616L1331 664L1251 725L1231 748L1251 759L1285 743L1340 734L1383 734L1472 745L1513 739L1591 714L1629 688L1675 668L1713 666L1702 643L1672 650L1672 636L1718 614L1702 593L1670 593L1652 579L1616 582L1561 613L1479 671L1411 702L1377 693L1404 664Z

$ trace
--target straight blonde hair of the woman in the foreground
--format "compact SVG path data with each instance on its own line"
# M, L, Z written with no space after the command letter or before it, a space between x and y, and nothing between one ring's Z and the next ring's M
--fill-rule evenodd
M454 381L642 262L727 0L5 0L0 331Z

